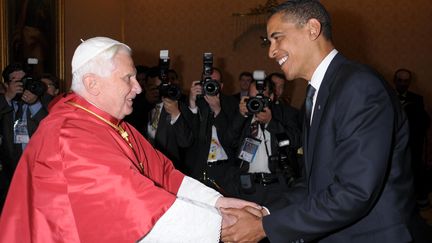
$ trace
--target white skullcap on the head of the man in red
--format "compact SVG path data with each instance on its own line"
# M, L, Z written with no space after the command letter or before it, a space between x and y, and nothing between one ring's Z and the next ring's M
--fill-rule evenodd
M130 50L126 44L110 39L108 37L93 37L85 41L77 47L72 57L72 73L84 66L88 61L102 53L103 51L111 48L114 45L122 45Z

